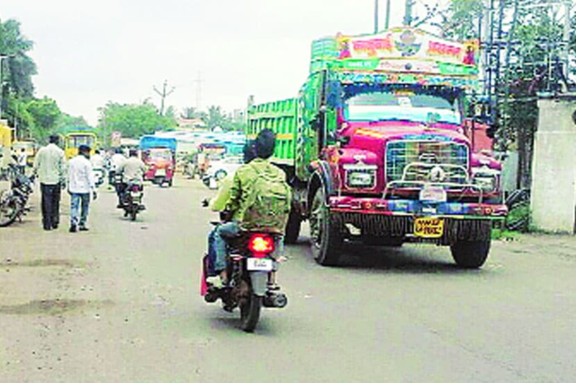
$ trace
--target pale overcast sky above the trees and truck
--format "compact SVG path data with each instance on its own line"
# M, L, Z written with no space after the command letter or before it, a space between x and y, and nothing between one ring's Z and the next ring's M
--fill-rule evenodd
M419 1L423 2L423 1ZM380 0L380 27L384 6ZM392 0L391 26L403 0ZM91 124L108 100L139 103L167 80L167 105L227 111L296 96L310 43L325 35L369 33L374 0L2 0L0 19L17 19L35 43L36 96Z

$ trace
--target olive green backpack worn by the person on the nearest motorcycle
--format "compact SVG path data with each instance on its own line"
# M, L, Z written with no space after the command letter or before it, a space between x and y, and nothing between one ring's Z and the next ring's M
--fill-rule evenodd
M246 230L284 234L291 207L291 191L283 172L269 174L249 165L257 177L246 199L242 226Z

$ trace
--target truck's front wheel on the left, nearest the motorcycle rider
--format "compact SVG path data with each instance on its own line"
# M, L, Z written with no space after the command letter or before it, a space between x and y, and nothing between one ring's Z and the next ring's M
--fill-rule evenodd
M331 222L323 188L318 188L310 210L310 239L312 255L322 266L335 266L340 258L342 243L338 224Z

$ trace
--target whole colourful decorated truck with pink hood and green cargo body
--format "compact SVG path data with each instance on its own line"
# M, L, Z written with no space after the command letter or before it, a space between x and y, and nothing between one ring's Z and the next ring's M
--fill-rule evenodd
M298 98L248 111L249 135L273 127L280 141L295 195L287 240L307 219L321 265L355 241L432 242L461 267L484 264L506 208L500 163L466 135L476 49L414 28L313 42Z

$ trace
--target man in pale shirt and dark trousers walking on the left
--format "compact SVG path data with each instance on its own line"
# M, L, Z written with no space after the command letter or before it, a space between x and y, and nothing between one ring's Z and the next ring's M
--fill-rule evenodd
M58 136L49 138L34 160L34 172L40 181L42 193L42 226L44 230L58 229L60 222L60 190L65 186L66 159L58 148Z

